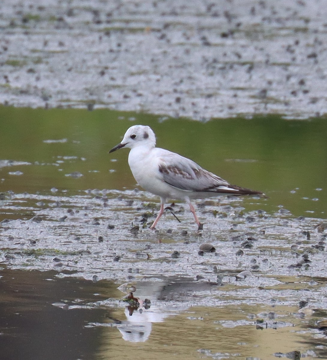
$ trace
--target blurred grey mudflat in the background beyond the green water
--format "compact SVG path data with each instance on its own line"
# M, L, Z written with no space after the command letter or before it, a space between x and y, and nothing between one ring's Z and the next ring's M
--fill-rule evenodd
M0 101L206 121L326 113L317 1L38 1L0 5Z

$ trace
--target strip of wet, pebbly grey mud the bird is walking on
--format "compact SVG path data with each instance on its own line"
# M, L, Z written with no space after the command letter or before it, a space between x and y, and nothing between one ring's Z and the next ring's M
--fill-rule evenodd
M234 291L241 301L277 296L288 305L300 300L326 305L321 292L327 225L322 219L294 218L284 208L275 214L244 212L242 202L230 198L197 203L204 230L196 229L184 204L174 204L182 222L167 211L153 231L149 226L158 204L148 193L96 193L8 194L11 198L1 201L6 218L0 228L6 267L54 269L62 276L68 270L70 276L118 284L185 278L217 285L219 297L210 292L208 301L220 305ZM259 207L264 200L254 201ZM211 246L200 248L203 243ZM242 271L247 273L237 276Z

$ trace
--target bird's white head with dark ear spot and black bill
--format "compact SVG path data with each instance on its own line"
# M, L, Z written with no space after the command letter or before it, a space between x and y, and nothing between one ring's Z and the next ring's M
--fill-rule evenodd
M124 139L121 143L113 147L109 153L120 148L135 148L137 146L146 146L148 148L154 148L156 146L156 135L149 126L134 125L131 126L125 132Z

